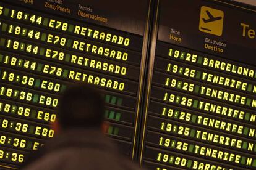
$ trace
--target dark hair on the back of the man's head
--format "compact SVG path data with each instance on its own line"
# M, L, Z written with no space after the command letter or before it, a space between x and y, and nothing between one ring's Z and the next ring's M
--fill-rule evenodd
M101 92L87 84L75 84L62 95L58 120L63 129L100 127L103 112L104 101Z

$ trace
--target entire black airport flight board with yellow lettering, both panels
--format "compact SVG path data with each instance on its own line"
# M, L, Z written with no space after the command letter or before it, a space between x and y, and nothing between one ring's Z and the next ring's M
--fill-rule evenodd
M55 135L78 82L148 169L256 169L255 21L228 0L0 1L0 169Z

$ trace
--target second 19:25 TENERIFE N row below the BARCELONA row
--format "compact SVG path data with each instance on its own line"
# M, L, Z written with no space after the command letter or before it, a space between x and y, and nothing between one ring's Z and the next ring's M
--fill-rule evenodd
M253 95L234 92L229 89L223 89L210 84L204 84L174 75L167 75L158 71L155 71L153 75L153 84L168 89L176 89L181 92L188 92L194 95L196 94L200 97L206 97L208 99L228 102L233 105L241 105L241 107L255 107L256 99L254 99Z

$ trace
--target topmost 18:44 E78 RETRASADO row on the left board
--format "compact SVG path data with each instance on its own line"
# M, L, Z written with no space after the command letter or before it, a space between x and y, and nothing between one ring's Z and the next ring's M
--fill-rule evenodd
M114 44L116 46L127 47L139 51L142 49L142 38L139 36L132 36L130 34L124 35L124 33L88 25L84 22L81 23L75 22L74 20L67 20L67 18L53 17L52 15L45 15L32 10L22 9L17 6L11 6L9 4L0 4L0 16L7 20L40 26L47 30L59 31L80 38L106 42L108 44Z

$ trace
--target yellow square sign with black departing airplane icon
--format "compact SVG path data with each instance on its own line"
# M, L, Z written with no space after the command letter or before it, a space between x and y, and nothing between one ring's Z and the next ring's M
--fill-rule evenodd
M221 36L223 31L224 12L211 7L202 6L200 12L199 30Z

